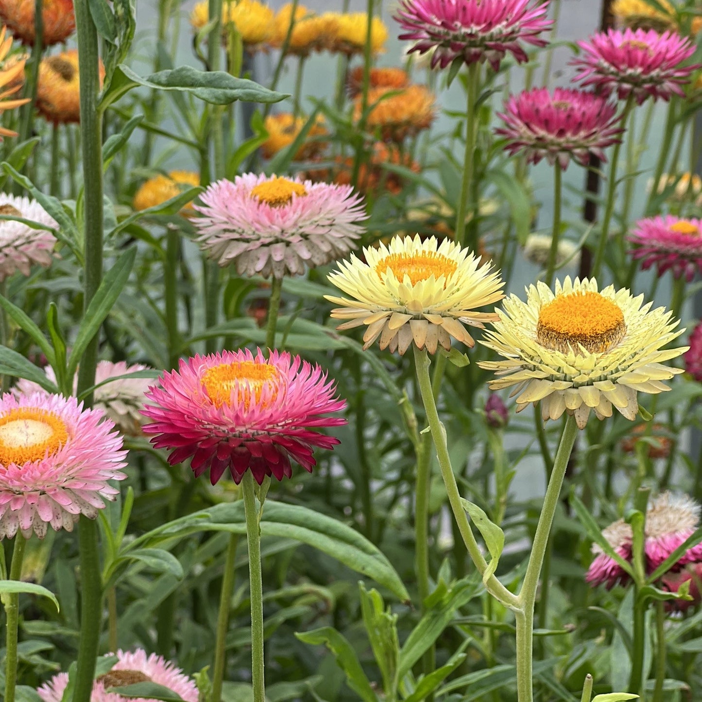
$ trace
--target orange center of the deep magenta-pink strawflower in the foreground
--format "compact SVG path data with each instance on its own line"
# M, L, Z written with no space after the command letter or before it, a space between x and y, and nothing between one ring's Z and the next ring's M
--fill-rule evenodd
M272 392L274 399L281 388L282 376L275 366L267 363L236 361L207 369L202 384L216 407L243 404L249 409L251 402L260 402L264 388ZM264 406L268 406L266 400Z

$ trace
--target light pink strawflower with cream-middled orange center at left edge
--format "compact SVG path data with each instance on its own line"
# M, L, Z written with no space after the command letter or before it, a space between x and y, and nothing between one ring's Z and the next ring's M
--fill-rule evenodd
M72 531L119 494L126 477L122 439L102 411L74 397L3 395L0 399L0 539L21 531Z

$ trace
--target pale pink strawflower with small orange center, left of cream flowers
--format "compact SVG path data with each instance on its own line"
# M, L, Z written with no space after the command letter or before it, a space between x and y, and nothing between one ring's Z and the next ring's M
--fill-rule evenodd
M246 173L219 180L195 206L201 249L239 275L282 278L331 263L355 248L366 219L349 185Z

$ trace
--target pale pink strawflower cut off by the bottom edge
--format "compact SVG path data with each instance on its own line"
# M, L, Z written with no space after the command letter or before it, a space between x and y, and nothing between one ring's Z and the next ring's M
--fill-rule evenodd
M172 690L185 702L197 702L198 691L194 681L163 656L147 655L143 649L136 649L133 652L117 651L117 658L119 660L112 670L100 675L93 683L91 702L150 702L147 698L127 698L107 691L137 682L155 682ZM59 673L44 683L37 693L44 702L61 702L67 684L68 673Z

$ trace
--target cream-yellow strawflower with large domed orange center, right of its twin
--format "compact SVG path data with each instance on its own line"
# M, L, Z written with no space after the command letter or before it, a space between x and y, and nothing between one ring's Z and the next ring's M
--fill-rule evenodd
M675 331L672 312L642 302L642 295L614 286L598 292L595 280L567 277L555 293L539 282L527 289L526 302L514 295L505 300L494 331L481 342L505 360L478 365L501 376L489 382L492 390L515 385L517 411L541 400L544 420L567 411L581 429L591 409L602 419L614 406L634 420L637 392L670 390L661 380L683 371L662 363L687 350L664 350L684 330Z

